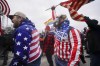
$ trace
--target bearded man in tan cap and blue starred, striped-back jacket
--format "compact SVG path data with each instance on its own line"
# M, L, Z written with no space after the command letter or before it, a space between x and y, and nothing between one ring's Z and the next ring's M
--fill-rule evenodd
M13 22L14 57L9 66L40 66L41 49L35 25L21 12L9 16Z

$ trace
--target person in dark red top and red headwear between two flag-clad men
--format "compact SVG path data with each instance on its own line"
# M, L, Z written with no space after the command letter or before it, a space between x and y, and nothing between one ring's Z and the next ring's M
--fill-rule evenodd
M43 43L43 53L46 55L49 66L54 66L52 56L54 54L54 34L50 32L50 27L45 28L45 38Z

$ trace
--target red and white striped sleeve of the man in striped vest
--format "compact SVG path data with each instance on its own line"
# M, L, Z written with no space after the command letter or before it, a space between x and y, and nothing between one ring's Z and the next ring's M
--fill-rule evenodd
M80 60L80 54L81 54L81 38L80 33L76 29L70 30L69 33L69 39L70 39L70 58L68 62L68 66L76 66L78 61Z

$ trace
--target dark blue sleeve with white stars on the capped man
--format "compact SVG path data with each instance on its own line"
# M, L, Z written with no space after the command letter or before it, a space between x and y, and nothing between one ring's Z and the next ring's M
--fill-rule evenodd
M29 58L30 34L25 29L19 29L15 36L14 58L10 66L26 66Z

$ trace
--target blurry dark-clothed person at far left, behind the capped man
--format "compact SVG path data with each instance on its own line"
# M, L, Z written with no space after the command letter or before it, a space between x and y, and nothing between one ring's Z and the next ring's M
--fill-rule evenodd
M8 54L9 54L9 51L11 51L12 44L13 44L12 34L13 34L13 28L6 27L5 29L3 29L3 34L1 37L2 39L0 39L1 40L0 42L2 42L0 44L1 45L3 44L2 56L4 57L2 66L7 65L7 62L8 62Z

